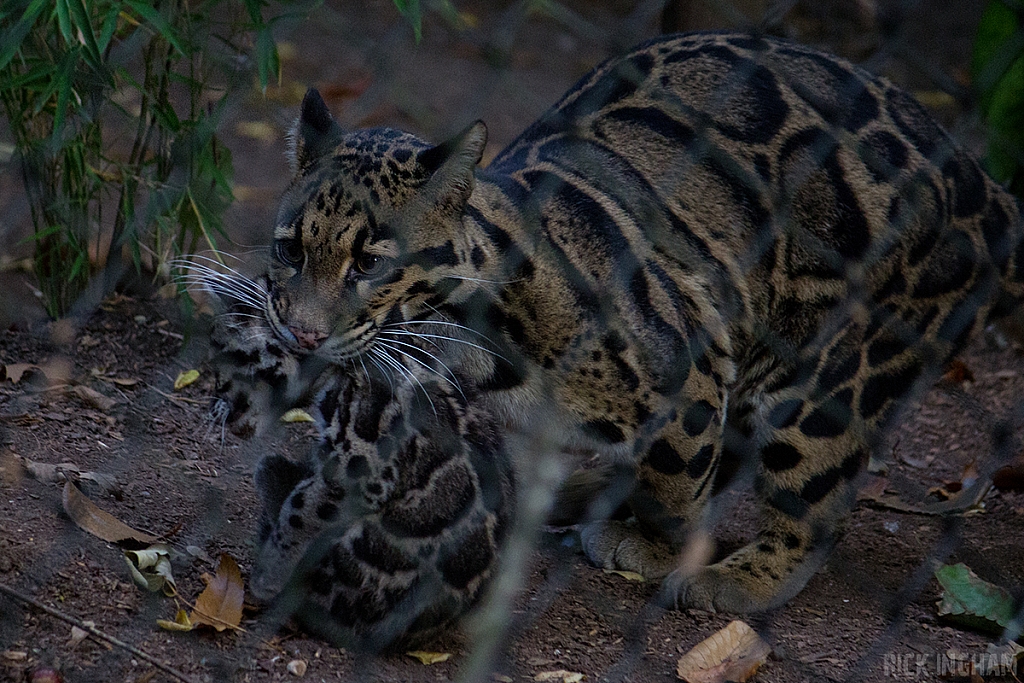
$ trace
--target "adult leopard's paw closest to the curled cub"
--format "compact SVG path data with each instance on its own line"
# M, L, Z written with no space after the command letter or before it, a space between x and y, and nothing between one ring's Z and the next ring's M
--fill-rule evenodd
M646 539L636 522L599 521L580 529L583 550L604 569L635 571L660 579L676 566L676 552L668 544Z

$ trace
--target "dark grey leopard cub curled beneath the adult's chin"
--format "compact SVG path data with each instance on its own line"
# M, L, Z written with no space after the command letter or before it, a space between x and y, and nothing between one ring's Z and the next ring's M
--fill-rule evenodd
M498 424L426 353L395 378L373 362L306 367L253 307L259 283L196 269L224 306L215 410L252 435L311 402L321 434L309 462L270 455L256 471L253 596L361 650L411 645L460 616L493 573L514 504Z

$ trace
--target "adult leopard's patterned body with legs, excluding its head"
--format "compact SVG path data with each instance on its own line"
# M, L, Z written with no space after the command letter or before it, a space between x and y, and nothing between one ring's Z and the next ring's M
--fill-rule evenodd
M1024 295L1020 203L904 91L783 41L640 46L480 180L473 225L516 247L505 334L546 369L570 439L640 454L636 523L585 529L588 555L673 572L711 484L755 474L758 540L674 572L680 605L798 591L901 409Z

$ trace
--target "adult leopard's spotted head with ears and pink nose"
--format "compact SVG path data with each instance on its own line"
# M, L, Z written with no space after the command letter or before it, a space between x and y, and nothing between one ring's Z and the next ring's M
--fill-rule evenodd
M274 334L340 361L478 276L462 221L485 141L481 122L436 146L393 129L346 133L309 90L274 227Z

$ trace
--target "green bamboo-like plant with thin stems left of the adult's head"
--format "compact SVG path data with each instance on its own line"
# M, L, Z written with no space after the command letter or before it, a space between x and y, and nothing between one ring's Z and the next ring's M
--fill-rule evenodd
M288 0L284 0L288 1ZM4 0L0 103L32 211L47 311L67 313L101 269L214 246L231 202L216 130L280 61L265 0Z

